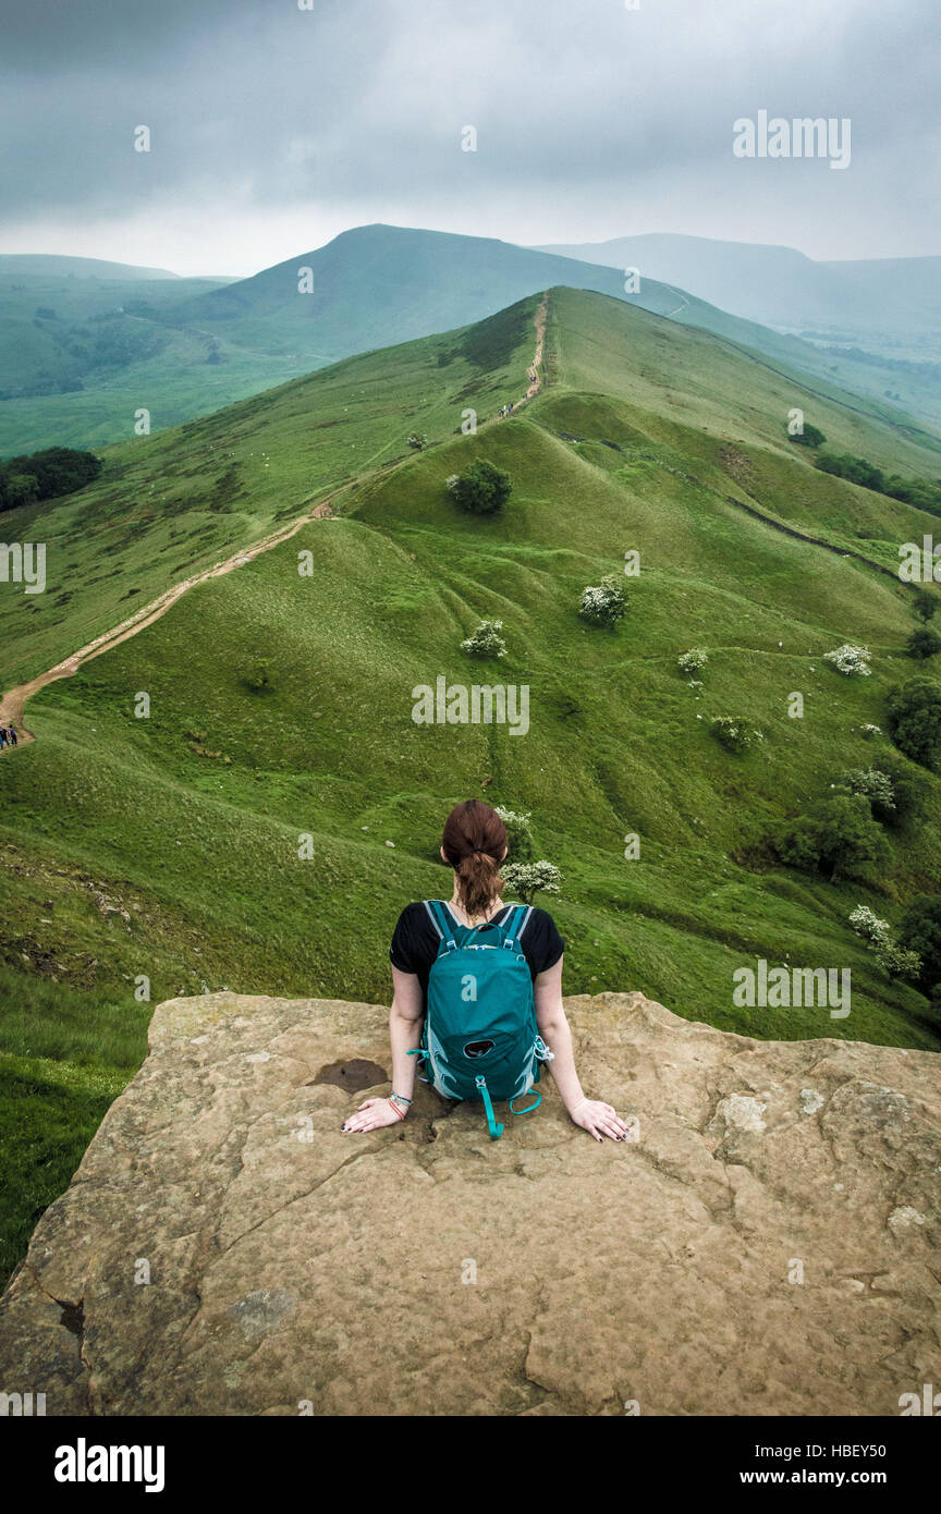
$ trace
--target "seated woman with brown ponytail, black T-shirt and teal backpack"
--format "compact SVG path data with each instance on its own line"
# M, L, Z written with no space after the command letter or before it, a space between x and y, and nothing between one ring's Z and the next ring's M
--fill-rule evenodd
M496 810L483 799L457 804L440 854L454 869L451 901L407 904L389 949L392 1093L366 1099L340 1129L404 1120L419 1061L443 1098L484 1105L496 1140L504 1126L493 1099L528 1114L542 1101L534 1084L549 1064L575 1125L596 1140L625 1140L625 1122L610 1104L585 1098L578 1081L561 999L564 943L552 916L499 896L507 831ZM523 1108L513 1108L526 1096Z

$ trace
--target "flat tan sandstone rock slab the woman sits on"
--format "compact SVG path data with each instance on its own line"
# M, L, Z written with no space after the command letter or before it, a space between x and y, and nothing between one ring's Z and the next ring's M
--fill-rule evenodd
M897 1416L941 1382L938 1057L566 1007L635 1140L552 1087L499 1142L424 1086L343 1136L387 1010L162 1004L0 1302L0 1387L50 1416Z

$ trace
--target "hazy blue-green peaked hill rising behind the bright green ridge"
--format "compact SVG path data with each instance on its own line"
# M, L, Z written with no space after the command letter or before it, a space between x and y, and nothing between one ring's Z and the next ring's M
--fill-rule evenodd
M135 283L126 277L135 269L112 277L109 263L95 280L57 262L26 277L5 274L0 259L0 456L132 438L141 407L154 431L166 430L352 353L474 324L555 285L710 330L812 374L821 392L873 377L682 286L644 277L626 294L620 268L483 236L362 226L241 280L144 271ZM882 413L900 418L884 401Z

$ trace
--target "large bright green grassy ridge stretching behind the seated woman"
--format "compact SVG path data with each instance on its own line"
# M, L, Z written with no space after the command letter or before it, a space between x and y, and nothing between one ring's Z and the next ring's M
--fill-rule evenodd
M890 983L846 924L858 902L896 921L912 893L938 890L941 783L914 769L917 822L891 833L874 883L831 884L769 848L784 818L887 749L859 727L884 725L887 689L911 675L914 619L911 592L877 565L933 524L817 472L787 441L787 410L803 406L835 447L903 472L933 475L941 442L817 400L705 333L567 289L549 295L543 392L454 435L461 407L493 415L525 388L536 303L154 438L133 488L106 474L97 489L115 492L89 491L85 521L83 497L68 506L71 556L126 528L123 497L144 509L147 466L154 491L175 471L188 527L212 516L209 492L233 503L210 447L238 451L247 503L233 530L262 533L359 472L334 518L44 689L27 707L38 740L0 759L0 951L15 986L0 1046L14 1157L35 1169L17 1182L9 1258L141 1055L141 977L151 1004L203 986L386 998L390 930L407 899L449 889L440 825L469 795L531 810L539 855L563 869L548 902L567 992L643 989L758 1037L941 1048L927 1001ZM340 413L342 428L324 425ZM377 466L411 428L433 445ZM271 478L250 466L262 456ZM511 474L501 519L461 515L446 494L475 457ZM177 516L153 518L139 530ZM620 572L629 550L641 572L626 580L628 616L616 631L585 627L581 589ZM113 612L97 597L124 571L116 587L83 587L113 547L88 551L59 621L29 615L39 653L11 643L17 677ZM159 560L150 553L148 574L129 554L127 572L150 592L165 581ZM460 651L484 616L504 621L501 662ZM823 662L844 640L871 646L871 678ZM676 669L693 645L710 656L699 690ZM528 734L416 725L413 689L439 675L526 684ZM803 719L787 715L793 690ZM762 731L746 755L710 734L728 713ZM737 1008L732 972L761 957L849 967L852 1014ZM33 1087L41 1114L62 1101L56 1136L45 1114L33 1120Z

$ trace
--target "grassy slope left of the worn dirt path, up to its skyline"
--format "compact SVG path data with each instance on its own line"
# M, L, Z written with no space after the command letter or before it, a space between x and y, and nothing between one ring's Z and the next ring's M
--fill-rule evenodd
M169 584L402 457L411 430L442 439L466 406L492 415L525 388L520 363L507 368L505 342L533 348L536 304L487 327L496 345L486 371L464 353L461 332L366 353L209 419L110 447L89 489L8 512L6 540L47 544L48 589L0 592L0 681L53 666Z

